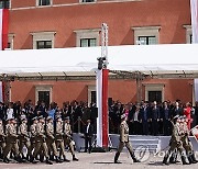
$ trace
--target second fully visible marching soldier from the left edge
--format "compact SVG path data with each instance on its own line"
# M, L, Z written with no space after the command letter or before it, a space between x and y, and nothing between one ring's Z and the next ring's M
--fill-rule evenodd
M28 133L28 120L24 117L21 121L22 124L19 126L19 140L20 140L19 149L20 149L20 154L22 155L22 158L24 159L23 147L25 146L28 149L26 159L30 160L32 158L32 149L31 149L30 136Z

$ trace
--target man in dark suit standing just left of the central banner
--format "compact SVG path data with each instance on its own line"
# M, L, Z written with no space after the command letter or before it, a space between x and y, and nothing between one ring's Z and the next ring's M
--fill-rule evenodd
M87 153L87 149L88 149L89 154L91 153L92 135L94 135L94 126L91 124L91 121L87 120L87 125L85 126L85 153Z

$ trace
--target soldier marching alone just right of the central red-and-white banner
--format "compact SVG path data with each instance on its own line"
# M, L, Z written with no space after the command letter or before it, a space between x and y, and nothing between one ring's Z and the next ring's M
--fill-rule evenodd
M128 148L131 155L131 158L133 159L133 162L140 162L140 160L136 159L134 151L132 149L131 143L129 140L129 126L127 123L125 114L122 114L121 124L120 124L120 144L119 144L118 151L114 156L114 164L120 164L120 161L118 161L118 158L124 146Z

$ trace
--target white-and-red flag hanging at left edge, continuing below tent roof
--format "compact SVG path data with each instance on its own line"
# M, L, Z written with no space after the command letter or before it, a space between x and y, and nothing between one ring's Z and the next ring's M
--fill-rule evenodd
M8 20L9 10L0 9L0 50L8 47ZM3 82L0 81L0 101L3 102Z

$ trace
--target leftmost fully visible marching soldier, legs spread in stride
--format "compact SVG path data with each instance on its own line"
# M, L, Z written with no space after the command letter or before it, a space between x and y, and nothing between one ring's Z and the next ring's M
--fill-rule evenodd
M3 162L9 164L8 154L13 149L13 153L15 155L15 158L18 162L22 162L22 159L20 157L19 153L19 146L18 146L18 134L16 134L16 121L14 119L10 119L10 124L7 125L7 146L4 147L3 153Z

